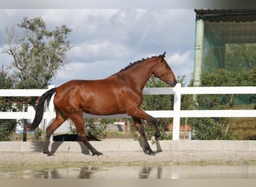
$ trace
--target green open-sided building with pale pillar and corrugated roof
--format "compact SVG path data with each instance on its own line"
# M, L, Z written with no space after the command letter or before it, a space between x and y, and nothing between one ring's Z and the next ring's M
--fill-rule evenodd
M194 86L201 72L256 66L256 10L195 10Z

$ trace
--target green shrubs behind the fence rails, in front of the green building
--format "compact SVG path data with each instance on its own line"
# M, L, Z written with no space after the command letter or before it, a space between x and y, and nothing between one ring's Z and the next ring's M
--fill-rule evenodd
M201 86L255 86L256 67L250 71L240 71L237 73L220 69L217 72L203 72L201 75ZM255 103L255 94L247 95L197 95L195 103L197 108L204 110L228 109L235 104ZM255 105L256 106L256 105ZM190 119L193 136L195 139L230 139L232 138L231 120L228 117L222 118L195 118Z

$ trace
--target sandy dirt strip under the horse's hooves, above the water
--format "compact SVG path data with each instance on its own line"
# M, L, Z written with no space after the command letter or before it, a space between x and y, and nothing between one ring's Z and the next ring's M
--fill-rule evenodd
M79 165L255 165L256 151L163 151L155 156L144 152L106 152L103 156L58 152L0 152L0 169L18 167L69 167Z

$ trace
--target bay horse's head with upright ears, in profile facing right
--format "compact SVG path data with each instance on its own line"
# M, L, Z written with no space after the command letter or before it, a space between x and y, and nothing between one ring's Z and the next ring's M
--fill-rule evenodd
M177 84L177 80L174 76L174 73L171 70L171 67L165 61L165 52L162 55L159 55L156 58L157 64L153 70L153 75L162 79L162 81L166 82L171 87L174 87Z

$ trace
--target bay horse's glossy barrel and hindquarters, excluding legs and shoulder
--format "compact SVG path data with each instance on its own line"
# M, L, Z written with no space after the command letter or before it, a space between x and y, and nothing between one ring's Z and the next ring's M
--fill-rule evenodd
M76 111L82 108L89 114L125 113L122 85L101 80L72 80L56 89L55 105Z

